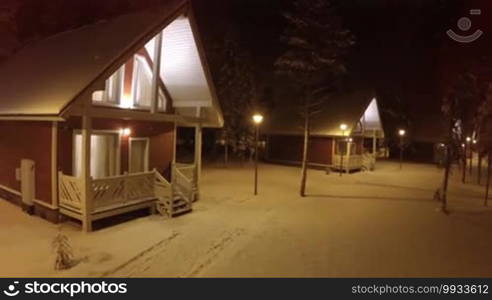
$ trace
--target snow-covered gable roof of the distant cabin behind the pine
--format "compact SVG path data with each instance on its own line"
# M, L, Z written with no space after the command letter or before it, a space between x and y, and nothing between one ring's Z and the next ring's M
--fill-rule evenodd
M345 134L356 131L361 118L366 115L369 130L382 131L381 118L377 108L377 100L372 91L356 91L335 93L327 97L320 112L311 119L311 134L313 136L341 136L341 124L348 125ZM370 121L370 122L368 122ZM302 135L303 118L300 107L296 104L281 105L265 118L263 132L266 134Z

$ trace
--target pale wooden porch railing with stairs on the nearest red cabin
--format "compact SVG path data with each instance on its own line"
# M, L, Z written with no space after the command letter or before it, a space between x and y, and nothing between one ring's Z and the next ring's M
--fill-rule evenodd
M68 210L63 213L74 218L89 215L89 222L101 218L102 213L111 216L118 214L118 209L123 211L130 206L149 203L147 207L151 207L150 203L154 203L155 208L155 202L161 214L174 216L175 213L191 210L191 204L197 195L197 184L194 165L173 165L172 172L172 184L157 170L91 179L90 212L84 211L88 199L83 180L60 172L60 207Z

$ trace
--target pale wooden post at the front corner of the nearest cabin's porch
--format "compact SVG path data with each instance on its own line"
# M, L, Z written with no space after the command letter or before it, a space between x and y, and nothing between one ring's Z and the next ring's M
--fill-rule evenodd
M86 111L87 112L87 111ZM82 203L82 229L92 231L92 179L91 179L91 135L92 120L86 114L82 116L82 182L84 202Z

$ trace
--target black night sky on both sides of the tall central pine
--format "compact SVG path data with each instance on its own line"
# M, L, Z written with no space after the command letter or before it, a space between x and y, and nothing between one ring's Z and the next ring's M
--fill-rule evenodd
M220 39L227 28L236 28L242 45L260 66L260 78L273 82L273 63L283 49L279 39L284 25L281 12L287 2L232 0L225 5L221 0L195 0L195 8L211 39ZM492 53L492 18L488 17L492 13L492 1L338 2L345 26L357 39L348 57L348 77L377 91L386 112L383 117L390 126L407 125L399 118L392 119L387 113L390 110L403 112L414 123L423 115L439 119L440 81L446 73L458 68L460 62L466 64L470 59ZM482 9L482 16L472 17L472 30L480 28L485 35L470 45L451 42L446 30L459 31L457 20L469 16L471 8ZM274 90L282 89L274 87Z

